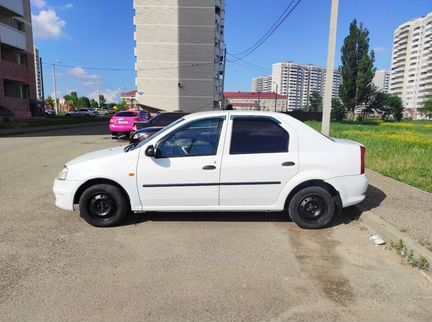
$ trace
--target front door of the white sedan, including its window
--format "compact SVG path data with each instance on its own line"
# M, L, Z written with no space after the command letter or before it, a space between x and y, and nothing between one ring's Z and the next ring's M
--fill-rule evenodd
M158 141L156 158L141 151L138 189L144 210L219 204L225 127L224 116L190 121Z

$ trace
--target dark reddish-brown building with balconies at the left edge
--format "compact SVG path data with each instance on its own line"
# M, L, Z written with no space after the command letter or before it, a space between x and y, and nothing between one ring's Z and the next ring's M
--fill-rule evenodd
M30 117L36 97L30 0L0 0L0 106Z

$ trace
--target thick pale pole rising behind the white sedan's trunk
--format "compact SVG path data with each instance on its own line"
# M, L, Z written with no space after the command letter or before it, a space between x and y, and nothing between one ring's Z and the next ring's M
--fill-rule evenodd
M336 51L336 34L337 34L337 21L339 11L339 0L332 0L331 16L330 16L330 33L329 45L327 54L327 72L324 92L324 106L321 124L321 132L324 135L330 135L330 117L331 117L331 99L333 92L333 73L334 73L334 60Z

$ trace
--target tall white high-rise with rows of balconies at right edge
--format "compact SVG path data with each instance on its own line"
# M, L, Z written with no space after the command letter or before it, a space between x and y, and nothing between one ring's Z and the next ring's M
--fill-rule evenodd
M432 95L432 12L395 30L390 92L402 98L406 116L420 117Z

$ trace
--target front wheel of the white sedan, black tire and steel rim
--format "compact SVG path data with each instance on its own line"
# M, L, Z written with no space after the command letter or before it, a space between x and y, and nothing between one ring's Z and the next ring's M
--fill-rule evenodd
M110 184L97 184L87 188L79 200L80 215L95 227L118 225L130 212L124 192Z

